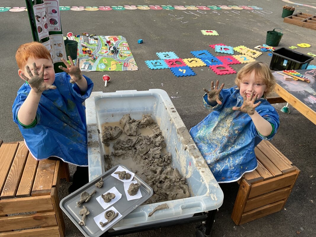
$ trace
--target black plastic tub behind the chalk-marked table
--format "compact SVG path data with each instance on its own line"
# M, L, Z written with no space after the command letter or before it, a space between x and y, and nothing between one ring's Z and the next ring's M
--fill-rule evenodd
M287 48L279 48L272 51L270 69L275 71L306 69L312 60L312 56Z

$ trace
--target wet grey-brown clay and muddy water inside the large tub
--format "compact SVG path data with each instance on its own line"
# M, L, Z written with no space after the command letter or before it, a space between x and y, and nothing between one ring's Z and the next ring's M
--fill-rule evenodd
M185 178L171 167L171 154L150 114L135 120L125 114L120 121L102 124L102 143L108 167L122 164L154 191L144 204L190 197Z

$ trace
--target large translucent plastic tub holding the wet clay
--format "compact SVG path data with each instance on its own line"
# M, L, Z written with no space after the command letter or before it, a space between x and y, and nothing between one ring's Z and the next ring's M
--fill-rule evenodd
M167 151L172 153L172 167L186 177L191 192L191 197L162 202L167 203L169 209L160 210L151 217L148 214L162 203L141 205L115 224L114 229L182 219L222 205L221 188L164 90L92 92L85 104L90 181L107 169L103 156L105 148L98 133L102 131L101 125L117 122L126 113L133 119L142 119L142 114L150 113L165 137Z

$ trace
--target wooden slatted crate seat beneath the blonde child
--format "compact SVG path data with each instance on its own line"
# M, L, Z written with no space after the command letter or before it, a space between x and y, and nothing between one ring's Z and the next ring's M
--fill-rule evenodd
M239 190L232 219L236 225L282 210L300 170L292 166L270 142L262 141L255 148L256 170L239 180Z

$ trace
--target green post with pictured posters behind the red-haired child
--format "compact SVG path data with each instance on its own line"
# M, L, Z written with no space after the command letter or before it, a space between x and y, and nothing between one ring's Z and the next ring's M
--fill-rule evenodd
M55 72L62 72L58 68L66 58L63 31L60 22L58 0L25 0L28 18L30 20L33 40L42 43L50 51Z

